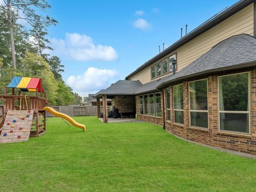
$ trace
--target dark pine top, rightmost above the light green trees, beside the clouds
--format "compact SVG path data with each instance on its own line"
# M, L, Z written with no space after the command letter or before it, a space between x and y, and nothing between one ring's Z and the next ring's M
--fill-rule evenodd
M52 73L55 79L62 80L61 73L64 72L64 65L61 64L60 58L57 56L52 56L49 59L49 65L51 67Z

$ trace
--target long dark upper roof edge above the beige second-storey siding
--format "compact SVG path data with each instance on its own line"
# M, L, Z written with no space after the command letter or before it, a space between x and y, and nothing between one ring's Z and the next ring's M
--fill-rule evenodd
M211 29L212 27L218 25L223 20L229 18L231 15L237 13L238 11L244 9L246 6L250 5L251 3L255 2L255 0L240 0L234 5L231 5L228 7L228 9L222 11L221 13L214 15L211 19L204 22L199 27L195 28L193 31L188 33L186 36L183 36L181 39L179 39L177 42L173 43L167 49L162 51L161 53L157 54L155 57L141 65L139 68L134 70L131 74L125 77L125 79L129 79L132 75L138 73L142 69L147 68L154 62L158 61L159 59L165 57L166 55L170 54L171 52L177 50L182 45L188 43L192 39L196 38L197 36L203 34L205 31Z

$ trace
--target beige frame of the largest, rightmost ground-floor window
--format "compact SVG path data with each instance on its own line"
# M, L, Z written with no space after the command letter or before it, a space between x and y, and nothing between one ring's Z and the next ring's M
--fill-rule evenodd
M248 74L248 94L249 94L249 110L248 111L225 111L225 110L220 110L220 95L219 95L219 92L220 92L220 85L219 85L219 78L220 77L224 77L224 76L231 76L231 75L238 75L238 74L245 74L247 73ZM217 89L218 89L218 131L219 132L224 132L224 133L237 133L237 134L245 134L245 135L251 135L251 73L250 71L245 71L245 72L241 72L241 73L233 73L233 74L228 74L228 75L221 75L221 76L218 76L218 82L217 82ZM242 113L241 113L242 112ZM244 113L243 113L244 112ZM246 113L245 113L246 112ZM246 132L238 132L238 131L228 131L228 130L221 130L220 129L220 113L234 113L234 114L248 114L249 115L249 132L246 133Z

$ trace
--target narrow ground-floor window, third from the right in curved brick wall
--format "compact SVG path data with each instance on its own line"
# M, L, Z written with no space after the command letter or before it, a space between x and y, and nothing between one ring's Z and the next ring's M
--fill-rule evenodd
M183 117L183 84L173 86L174 123L184 123Z

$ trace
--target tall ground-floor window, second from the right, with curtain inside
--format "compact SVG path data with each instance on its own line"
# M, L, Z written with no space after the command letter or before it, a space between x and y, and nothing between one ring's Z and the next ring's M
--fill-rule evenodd
M189 82L190 125L208 128L207 79Z

